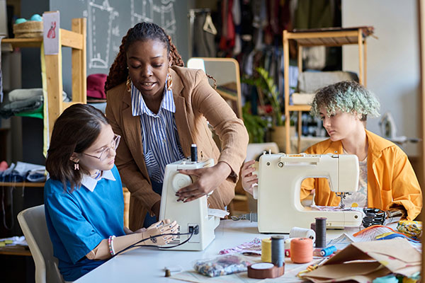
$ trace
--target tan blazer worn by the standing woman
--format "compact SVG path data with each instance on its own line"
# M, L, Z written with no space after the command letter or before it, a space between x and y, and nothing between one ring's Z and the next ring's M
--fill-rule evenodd
M210 208L224 209L234 197L237 174L246 155L246 128L210 86L203 71L171 67L171 76L176 104L174 117L183 154L190 156L191 144L197 144L198 157L214 158L216 163L224 161L232 168L229 178L208 198ZM143 226L146 213L152 212L152 206L161 200L161 196L152 190L143 156L140 116L132 115L131 95L125 83L109 90L106 96L106 117L115 134L122 137L115 165L123 184L131 192L129 228L135 231ZM221 154L212 139L207 120L222 141Z

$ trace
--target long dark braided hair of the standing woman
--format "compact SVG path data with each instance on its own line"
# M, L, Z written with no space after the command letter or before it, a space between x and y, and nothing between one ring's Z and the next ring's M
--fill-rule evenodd
M179 67L184 66L181 55L177 51L176 46L171 42L171 37L167 35L159 25L146 22L137 23L128 30L127 35L125 35L121 41L120 52L118 52L111 69L109 69L109 75L105 83L105 92L127 80L128 68L126 52L128 51L128 47L136 41L146 40L159 40L162 42L164 47L166 47L167 53L169 54L171 52L171 65Z

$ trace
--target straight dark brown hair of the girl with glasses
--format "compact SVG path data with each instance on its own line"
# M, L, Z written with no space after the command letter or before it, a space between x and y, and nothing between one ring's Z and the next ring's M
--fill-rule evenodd
M62 182L64 190L67 183L70 192L81 187L83 173L88 173L84 168L74 170L72 154L88 149L101 133L102 125L108 124L101 110L87 104L71 105L57 118L47 151L46 170L50 178Z

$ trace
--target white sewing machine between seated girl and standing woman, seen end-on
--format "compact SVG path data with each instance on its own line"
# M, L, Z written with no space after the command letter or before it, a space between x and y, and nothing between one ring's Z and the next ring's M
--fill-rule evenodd
M204 250L215 238L214 230L220 224L220 217L208 216L208 202L204 195L191 202L177 202L176 192L182 187L191 185L191 176L181 174L178 169L190 170L214 166L214 159L207 161L191 161L185 158L170 163L165 168L164 185L162 186L161 209L159 220L171 219L180 225L179 233L188 233L199 226L199 233L193 234L191 240L172 250ZM163 246L174 246L183 243L188 235L177 236L174 241Z

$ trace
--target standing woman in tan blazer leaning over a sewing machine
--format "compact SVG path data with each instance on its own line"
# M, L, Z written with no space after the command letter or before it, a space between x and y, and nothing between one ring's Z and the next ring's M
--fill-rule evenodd
M248 134L205 73L183 68L162 28L138 23L128 30L105 88L106 117L122 137L115 164L131 192L130 229L156 220L164 167L190 156L191 144L197 144L200 158L214 158L215 166L181 171L198 179L179 190L177 197L187 202L214 191L208 198L210 208L229 204ZM207 121L222 141L221 153Z

